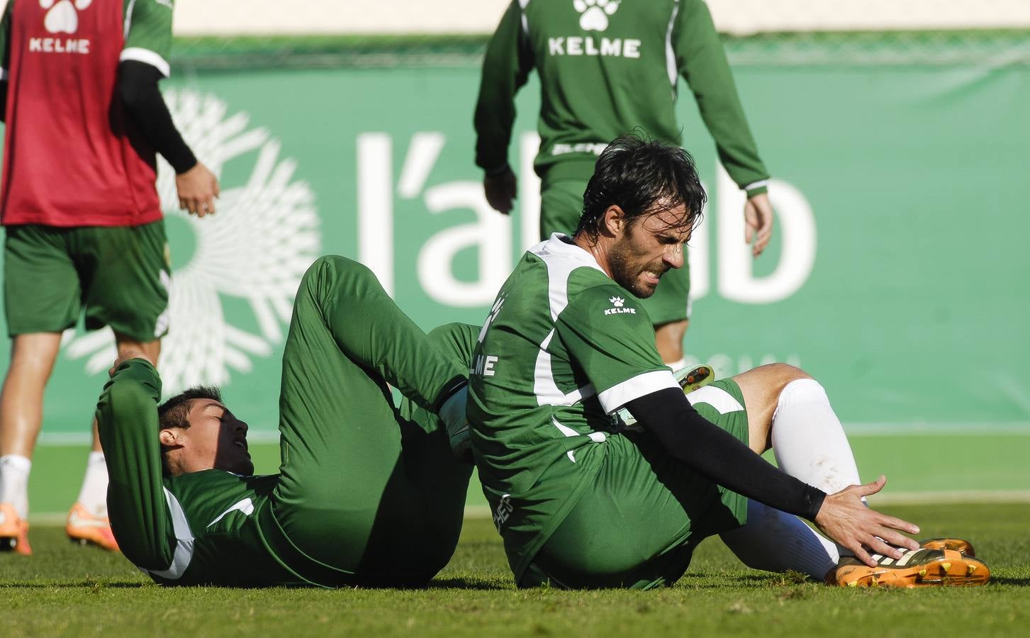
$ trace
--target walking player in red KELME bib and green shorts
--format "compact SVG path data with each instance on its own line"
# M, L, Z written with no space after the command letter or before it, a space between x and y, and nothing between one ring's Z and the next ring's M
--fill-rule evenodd
M179 206L214 212L217 179L182 141L158 89L171 36L172 0L11 0L3 14L0 214L12 344L0 395L0 546L19 553L31 553L29 471L62 331L84 309L88 329L110 326L118 351L151 361L168 331L154 152L175 169ZM72 539L117 548L106 495L94 429L68 515Z

